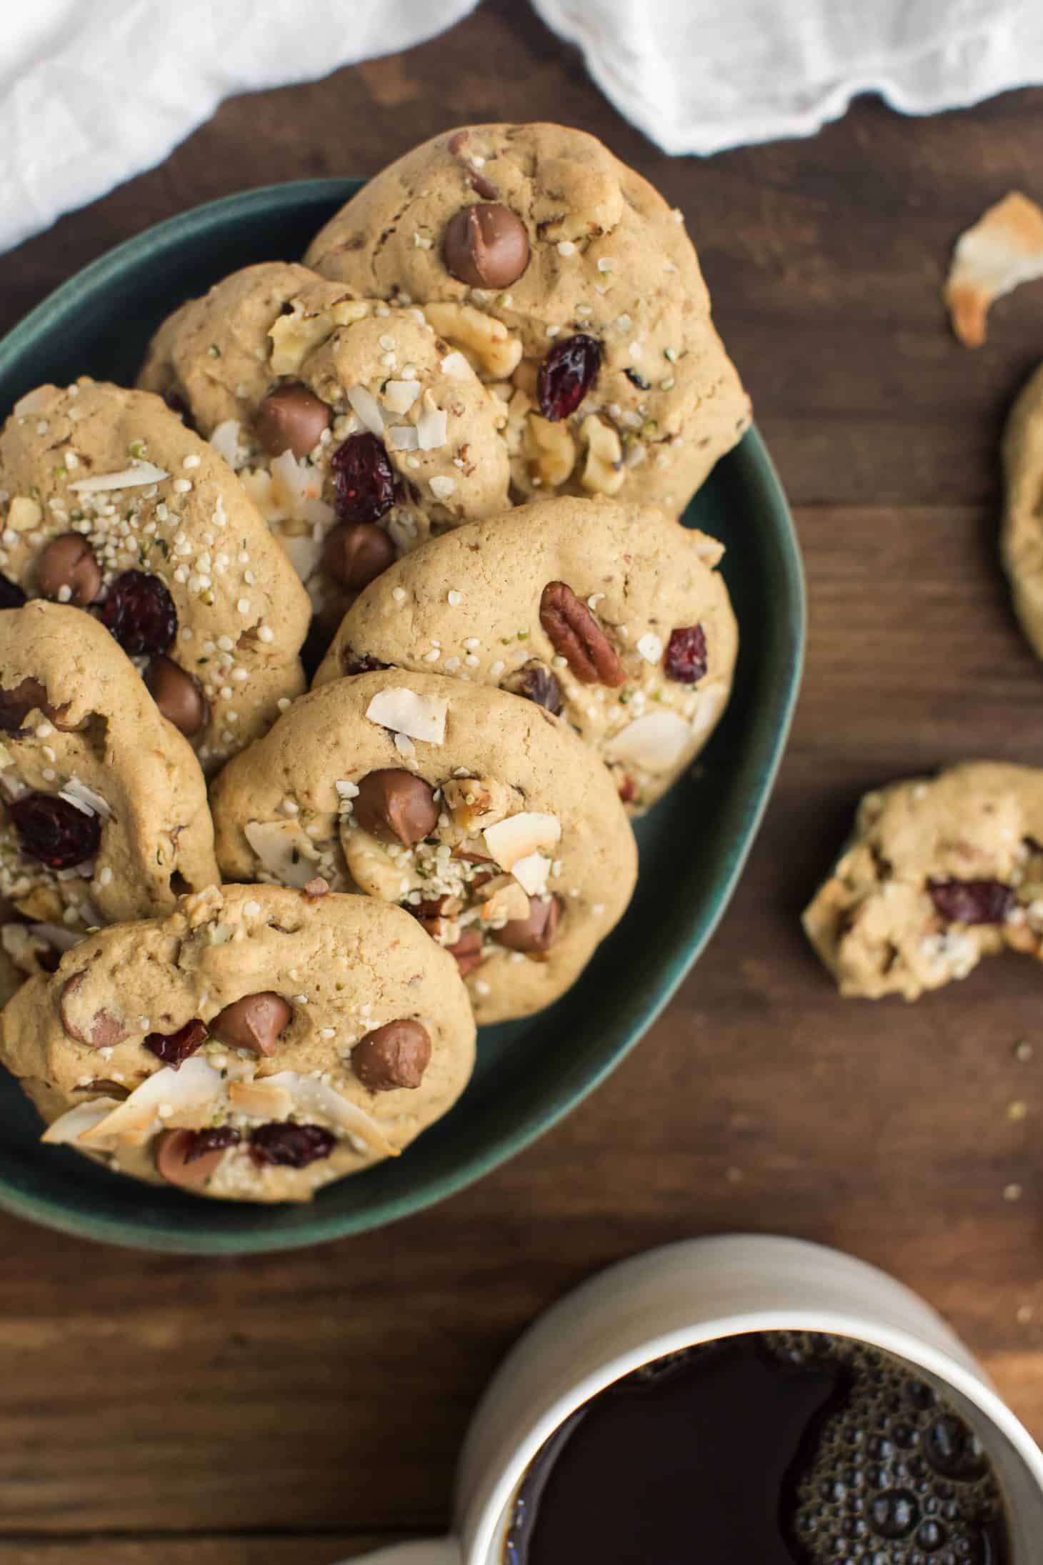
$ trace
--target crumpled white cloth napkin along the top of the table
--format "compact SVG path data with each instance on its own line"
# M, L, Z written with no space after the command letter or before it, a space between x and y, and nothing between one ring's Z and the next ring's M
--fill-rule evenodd
M0 249L159 163L222 99L308 81L477 0L31 0L0 39ZM522 0L516 0L522 3ZM1043 80L1040 0L532 0L666 152L804 136L855 92L926 114ZM568 108L563 108L568 116Z

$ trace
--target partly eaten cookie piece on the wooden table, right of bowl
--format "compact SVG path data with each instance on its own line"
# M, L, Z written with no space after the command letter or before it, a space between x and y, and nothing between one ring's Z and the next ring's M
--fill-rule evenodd
M866 793L804 914L840 992L916 1000L1004 948L1043 953L1043 770L974 761Z

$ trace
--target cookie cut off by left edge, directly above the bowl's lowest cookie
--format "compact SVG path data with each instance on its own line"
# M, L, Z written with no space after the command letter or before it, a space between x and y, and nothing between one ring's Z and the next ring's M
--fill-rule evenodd
M191 745L78 609L0 613L0 944L23 973L219 880Z

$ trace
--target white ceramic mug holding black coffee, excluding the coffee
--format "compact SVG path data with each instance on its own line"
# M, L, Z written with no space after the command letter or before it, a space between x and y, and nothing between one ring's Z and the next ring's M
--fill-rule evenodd
M514 1493L544 1440L613 1380L679 1347L747 1332L871 1343L943 1391L999 1477L1012 1565L1038 1565L1043 1452L941 1316L902 1283L802 1239L688 1239L610 1266L539 1316L468 1430L453 1537L367 1554L369 1565L502 1565Z

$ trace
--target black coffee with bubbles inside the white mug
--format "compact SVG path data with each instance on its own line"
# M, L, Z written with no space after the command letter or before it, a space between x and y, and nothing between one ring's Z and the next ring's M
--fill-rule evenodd
M593 1398L535 1457L507 1565L1010 1565L996 1474L896 1358L772 1332Z

